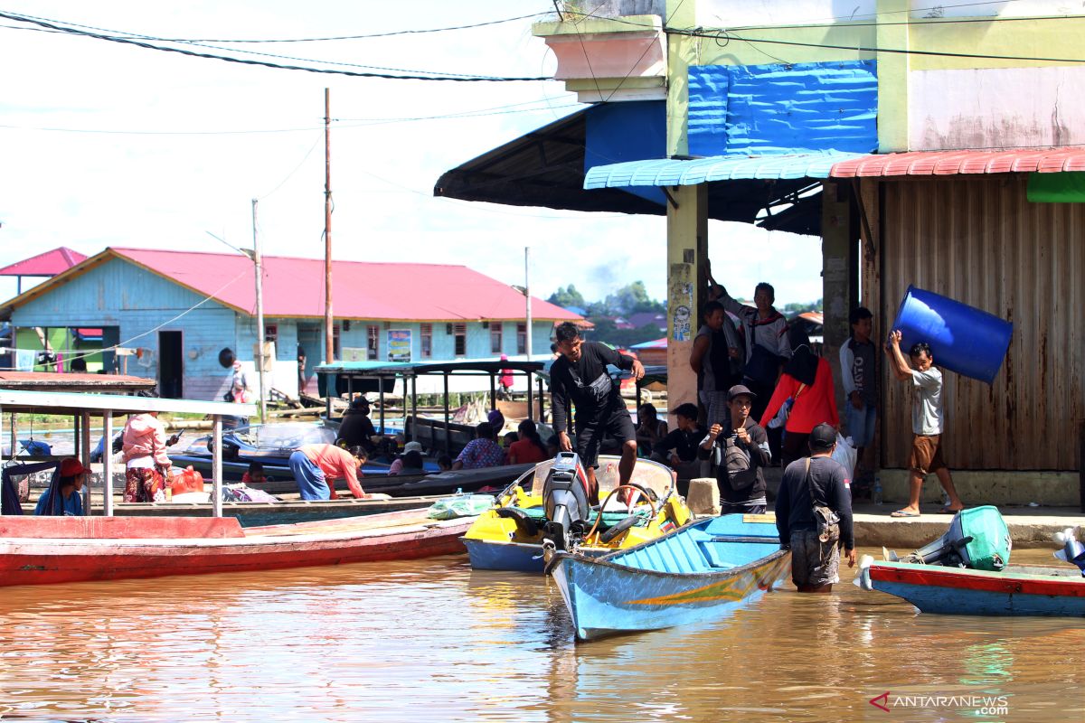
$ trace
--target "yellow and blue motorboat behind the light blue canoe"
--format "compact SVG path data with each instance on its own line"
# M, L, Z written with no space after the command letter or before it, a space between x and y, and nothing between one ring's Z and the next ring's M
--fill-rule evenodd
M612 494L617 487L620 460L612 455L599 457L597 477L605 507L601 513L598 506L592 509L593 517L587 520L591 529L577 538L582 554L600 556L633 547L689 521L689 508L675 492L674 474L658 462L637 460L630 481L647 493L638 495L633 507ZM494 509L478 516L463 535L472 568L542 571L547 534L542 494L553 464L553 460L547 460L529 468L498 495Z

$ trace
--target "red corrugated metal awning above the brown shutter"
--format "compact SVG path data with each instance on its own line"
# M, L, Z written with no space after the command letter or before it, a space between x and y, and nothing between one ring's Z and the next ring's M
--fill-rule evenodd
M956 176L959 173L1058 173L1085 171L1085 149L1046 151L914 151L841 160L832 178Z

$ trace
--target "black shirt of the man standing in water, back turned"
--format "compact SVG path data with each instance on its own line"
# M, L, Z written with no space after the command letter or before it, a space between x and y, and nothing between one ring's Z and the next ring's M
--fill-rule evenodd
M810 482L806 482L806 460L796 460L783 470L780 491L776 495L776 529L780 542L790 544L792 532L817 530L814 519L814 502L810 489L818 504L825 505L840 515L840 540L848 550L855 548L855 533L852 530L852 491L847 470L828 456L809 457Z

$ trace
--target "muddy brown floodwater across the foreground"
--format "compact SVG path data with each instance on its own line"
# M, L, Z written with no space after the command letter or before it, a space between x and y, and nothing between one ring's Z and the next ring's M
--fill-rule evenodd
M0 719L1082 721L1082 620L918 615L850 583L574 644L547 579L456 556L2 589Z

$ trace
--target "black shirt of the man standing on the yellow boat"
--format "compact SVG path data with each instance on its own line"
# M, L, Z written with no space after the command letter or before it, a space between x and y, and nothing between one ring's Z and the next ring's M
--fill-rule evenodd
M550 398L556 432L567 430L572 404L576 405L577 424L583 425L598 419L621 401L616 384L602 400L588 388L600 375L607 374L607 364L629 370L633 369L633 357L620 354L598 341L585 341L580 345L580 358L576 362L569 361L564 356L554 360L550 366Z

